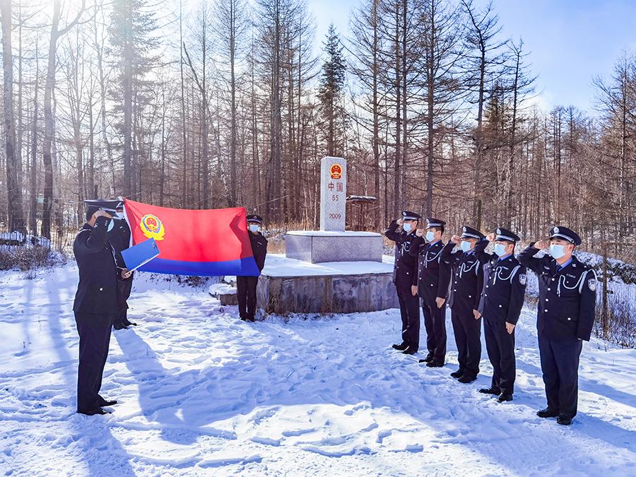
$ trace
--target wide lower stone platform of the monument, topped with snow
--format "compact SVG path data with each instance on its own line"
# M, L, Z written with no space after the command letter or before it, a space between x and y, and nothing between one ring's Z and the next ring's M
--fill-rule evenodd
M259 278L257 306L266 313L353 313L398 307L393 263L308 264L268 255Z

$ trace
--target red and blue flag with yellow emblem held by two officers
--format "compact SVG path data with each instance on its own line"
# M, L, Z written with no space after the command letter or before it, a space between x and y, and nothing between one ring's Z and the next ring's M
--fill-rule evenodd
M124 202L132 245L155 239L159 257L141 271L197 276L259 276L245 208L203 211Z

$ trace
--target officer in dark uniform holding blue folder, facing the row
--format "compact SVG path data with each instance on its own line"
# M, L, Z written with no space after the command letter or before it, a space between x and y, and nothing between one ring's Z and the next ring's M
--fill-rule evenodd
M117 404L117 401L108 401L99 394L112 322L120 312L117 282L129 278L127 270L117 269L115 252L108 241L107 228L111 220L109 213L89 205L86 223L73 242L73 254L79 269L73 303L80 337L77 412L88 416L105 414L102 406Z

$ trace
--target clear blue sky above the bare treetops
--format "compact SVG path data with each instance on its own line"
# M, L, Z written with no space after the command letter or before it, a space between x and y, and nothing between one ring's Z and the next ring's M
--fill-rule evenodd
M486 4L487 0L476 0ZM330 22L348 33L359 0L307 0L316 18L317 45ZM593 112L596 75L611 76L624 49L636 50L636 0L495 0L502 35L522 37L538 74L538 102Z

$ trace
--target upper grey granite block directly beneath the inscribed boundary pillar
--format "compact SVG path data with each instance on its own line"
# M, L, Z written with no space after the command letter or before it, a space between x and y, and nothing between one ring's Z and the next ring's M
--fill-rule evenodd
M382 261L382 235L375 232L294 230L285 234L285 256L312 264Z

